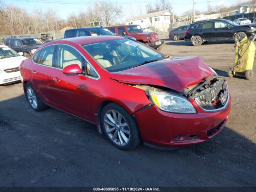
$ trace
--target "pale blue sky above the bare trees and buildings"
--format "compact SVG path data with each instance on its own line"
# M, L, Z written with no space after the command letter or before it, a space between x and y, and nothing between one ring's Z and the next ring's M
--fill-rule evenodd
M145 4L156 2L157 0L108 0L107 2L118 2L120 6L123 6L123 15L120 21L125 20L130 16L135 16L139 14L145 14L146 8ZM193 8L193 0L173 0L174 1L174 13L180 15L183 12L191 10ZM206 11L208 0L195 0L196 10ZM91 4L99 2L98 0L5 0L6 4L13 4L15 6L26 8L28 11L33 10L35 7L40 7L43 10L47 8L55 8L58 10L61 18L66 18L66 16L72 12L77 12L81 9L86 10ZM172 4L172 0L167 0ZM244 2L244 0L211 0L211 6L221 6L221 5L232 5L236 2Z

